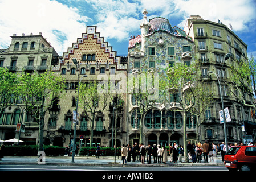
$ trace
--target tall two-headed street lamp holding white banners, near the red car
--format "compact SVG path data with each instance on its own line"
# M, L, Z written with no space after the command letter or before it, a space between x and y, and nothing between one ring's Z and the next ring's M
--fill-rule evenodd
M225 55L223 65L224 65L225 61L226 61L227 59L229 59L229 57L230 57L230 53L227 53L227 54ZM223 65L222 65L222 68L221 68L221 73L222 73ZM224 119L224 121L223 121L224 137L225 137L226 150L228 150L227 133L226 133L226 116L225 116L225 112L224 112L224 103L223 103L223 94L222 94L221 81L219 80L219 78L218 78L218 76L216 75L216 73L214 73L214 72L212 72L212 71L209 71L208 73L213 73L213 74L217 77L218 83L219 83L219 85L220 85L221 107L222 107L222 113L223 113L223 119ZM220 78L221 78L221 77L220 77Z

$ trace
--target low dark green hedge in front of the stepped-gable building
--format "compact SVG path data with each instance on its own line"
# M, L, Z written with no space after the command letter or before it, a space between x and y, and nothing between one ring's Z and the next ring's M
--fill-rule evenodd
M80 149L79 155L96 155L97 147L83 147ZM100 155L114 156L115 148L111 147L100 147ZM121 156L121 148L116 148L116 156Z

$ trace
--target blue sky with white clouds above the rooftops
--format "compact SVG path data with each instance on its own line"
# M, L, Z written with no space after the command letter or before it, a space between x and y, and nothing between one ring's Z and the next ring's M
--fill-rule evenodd
M0 49L10 46L13 34L42 32L62 56L86 26L96 25L117 55L127 55L130 36L141 34L144 9L148 20L166 18L182 30L190 15L231 24L248 57L256 57L256 0L0 0Z

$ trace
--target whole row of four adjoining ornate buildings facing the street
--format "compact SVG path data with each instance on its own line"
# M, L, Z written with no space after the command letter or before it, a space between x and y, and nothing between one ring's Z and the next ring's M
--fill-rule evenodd
M74 133L72 122L73 111L76 109L77 88L79 81L99 81L99 77L107 77L119 85L123 75L129 75L145 70L151 73L159 73L164 78L164 70L173 67L177 63L190 65L196 59L201 61L201 77L198 81L207 81L209 92L213 93L214 102L206 109L200 121L204 121L199 128L200 141L210 140L214 143L224 141L224 130L218 112L221 110L220 90L217 77L210 75L208 71L222 77L224 93L224 105L229 108L231 122L227 123L227 136L230 143L243 142L245 134L241 126L246 126L247 139L255 140L255 118L251 115L253 107L241 105L241 101L229 94L234 90L230 86L230 65L233 60L247 61L247 46L224 24L214 23L202 19L200 16L191 16L186 22L184 30L172 27L168 19L152 18L147 20L147 11L140 27L141 35L131 37L128 42L128 56L117 56L108 42L96 31L96 26L87 26L75 43L59 56L50 43L39 35L11 36L11 44L7 49L1 49L0 66L9 69L10 72L44 72L49 69L56 75L66 78L66 90L64 97L52 107L45 118L44 144L66 146L71 143ZM226 53L230 58L225 61ZM73 60L78 64L74 64ZM119 76L117 76L119 75ZM86 76L86 77L84 77ZM235 92L235 91L234 91ZM96 114L96 121L92 127L94 130L93 146L112 146L114 131L113 114L117 112L117 146L121 144L133 144L143 138L144 144L166 144L177 142L184 144L183 128L187 128L187 139L196 142L195 123L182 123L184 113L175 110L178 102L172 106L163 101L157 101L151 110L140 115L137 103L132 94L121 94L124 101L123 107L115 110L114 102L116 94L107 101L105 110ZM247 104L253 105L253 94L245 97ZM17 105L14 105L17 104ZM100 106L98 108L100 110ZM78 105L79 122L76 127L76 143L80 147L90 143L91 123L86 118L82 107ZM140 136L139 118L142 117L143 133ZM38 144L38 124L24 112L22 99L13 101L13 105L5 109L0 118L0 139L6 140L18 138L15 133L17 123L26 125L25 133L21 133L21 140L25 144ZM82 136L82 139L80 138Z

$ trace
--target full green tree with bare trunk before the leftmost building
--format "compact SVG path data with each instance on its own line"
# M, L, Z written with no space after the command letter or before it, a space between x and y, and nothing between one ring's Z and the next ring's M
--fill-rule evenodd
M56 76L51 71L30 75L23 72L21 77L21 90L23 96L26 96L25 111L39 125L39 147L38 150L43 150L43 129L44 118L47 111L51 108L54 102L61 96L64 91L64 78ZM63 95L62 95L63 96Z

